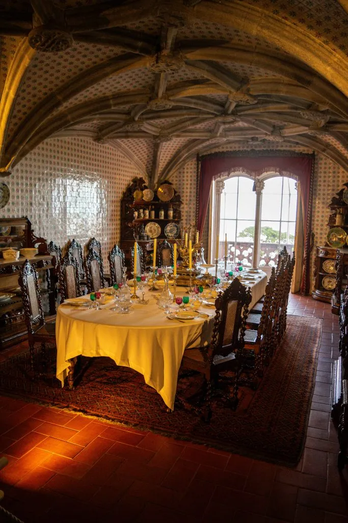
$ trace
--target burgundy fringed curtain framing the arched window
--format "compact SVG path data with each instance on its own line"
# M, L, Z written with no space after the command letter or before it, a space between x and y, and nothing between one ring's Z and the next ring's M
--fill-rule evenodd
M291 173L301 183L302 207L304 217L304 270L301 282L301 293L309 293L309 255L311 239L311 213L313 200L313 165L314 155L298 156L228 156L207 155L201 158L198 179L198 212L197 229L202 232L206 219L210 187L212 180L219 174L245 172L258 176L265 172L280 174Z

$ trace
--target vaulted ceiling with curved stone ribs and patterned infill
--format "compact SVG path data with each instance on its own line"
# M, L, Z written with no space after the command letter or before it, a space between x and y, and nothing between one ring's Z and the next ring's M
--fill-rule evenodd
M151 185L221 143L348 168L345 0L0 0L0 35L3 175L77 135Z

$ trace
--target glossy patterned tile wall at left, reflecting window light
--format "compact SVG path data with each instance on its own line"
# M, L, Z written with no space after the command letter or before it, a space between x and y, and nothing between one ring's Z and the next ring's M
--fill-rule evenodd
M137 169L112 147L88 138L44 141L1 179L10 201L0 217L28 216L37 236L64 246L100 240L103 257L119 240L120 198Z

